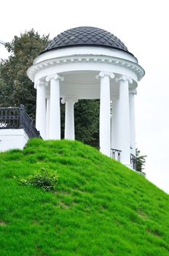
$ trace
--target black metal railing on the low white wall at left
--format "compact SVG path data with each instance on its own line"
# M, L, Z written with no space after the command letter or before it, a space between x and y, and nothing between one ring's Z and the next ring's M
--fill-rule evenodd
M41 138L25 107L0 108L0 129L24 129L29 138Z

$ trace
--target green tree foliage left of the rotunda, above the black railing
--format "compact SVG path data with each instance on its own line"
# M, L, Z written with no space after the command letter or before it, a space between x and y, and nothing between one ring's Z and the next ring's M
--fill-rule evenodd
M41 37L31 29L7 43L6 48L11 56L0 63L0 107L23 104L28 114L35 118L36 90L26 72L48 42L49 36Z

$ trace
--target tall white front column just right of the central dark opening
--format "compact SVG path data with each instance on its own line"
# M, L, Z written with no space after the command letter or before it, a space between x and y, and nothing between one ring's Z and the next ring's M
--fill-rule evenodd
M110 78L114 74L100 72L101 99L100 99L100 151L111 156L111 110L110 110Z

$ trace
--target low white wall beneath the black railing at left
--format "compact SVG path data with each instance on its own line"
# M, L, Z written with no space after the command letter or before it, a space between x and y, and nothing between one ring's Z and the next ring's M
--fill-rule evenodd
M0 152L23 149L27 141L24 129L0 129Z

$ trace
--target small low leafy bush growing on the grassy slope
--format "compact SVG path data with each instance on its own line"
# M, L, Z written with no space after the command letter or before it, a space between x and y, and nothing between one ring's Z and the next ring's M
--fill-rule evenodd
M30 175L26 178L18 177L17 179L20 184L40 187L44 189L44 191L51 191L56 189L58 172L50 170L49 167L42 167L42 169L34 173L34 175Z

